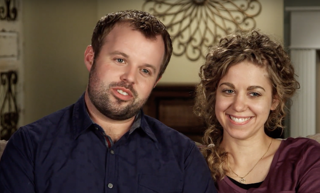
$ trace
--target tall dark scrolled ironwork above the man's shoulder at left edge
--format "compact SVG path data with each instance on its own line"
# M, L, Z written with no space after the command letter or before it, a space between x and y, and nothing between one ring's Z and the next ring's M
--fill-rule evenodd
M19 112L15 86L18 81L16 71L0 73L0 139L9 140L17 130Z

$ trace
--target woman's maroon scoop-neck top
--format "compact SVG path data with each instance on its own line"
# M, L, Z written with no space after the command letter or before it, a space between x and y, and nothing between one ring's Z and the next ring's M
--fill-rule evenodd
M220 193L320 193L320 143L308 138L283 140L259 188L242 189L227 176L216 187Z

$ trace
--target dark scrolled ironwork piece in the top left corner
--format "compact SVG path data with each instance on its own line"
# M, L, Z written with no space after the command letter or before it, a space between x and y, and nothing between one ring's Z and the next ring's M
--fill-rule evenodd
M0 20L13 21L17 18L14 0L0 0Z

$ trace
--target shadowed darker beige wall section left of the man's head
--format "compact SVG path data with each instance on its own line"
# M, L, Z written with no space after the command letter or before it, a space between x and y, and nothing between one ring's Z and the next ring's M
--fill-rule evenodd
M74 103L88 72L84 50L97 21L92 0L23 2L25 124Z

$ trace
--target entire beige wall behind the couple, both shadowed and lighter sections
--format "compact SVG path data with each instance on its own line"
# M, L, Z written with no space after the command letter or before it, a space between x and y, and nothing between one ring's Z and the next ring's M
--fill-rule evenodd
M97 20L109 12L141 10L144 0L28 0L23 2L25 124L74 103L88 72L83 54ZM282 39L283 0L261 0L257 27ZM173 56L161 83L196 83L202 60Z

